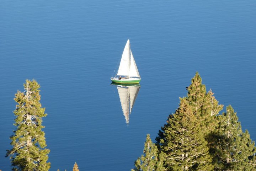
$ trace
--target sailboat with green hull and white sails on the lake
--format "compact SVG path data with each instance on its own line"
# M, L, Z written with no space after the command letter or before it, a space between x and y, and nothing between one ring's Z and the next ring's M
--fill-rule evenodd
M122 54L121 62L118 71L112 82L121 84L138 84L140 82L140 75L130 49L130 40L128 39Z

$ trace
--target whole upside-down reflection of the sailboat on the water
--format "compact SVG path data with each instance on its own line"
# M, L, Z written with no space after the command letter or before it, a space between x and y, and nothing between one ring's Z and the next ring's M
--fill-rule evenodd
M132 112L133 105L138 96L140 84L118 84L112 82L111 85L117 87L123 115L126 123L129 124L129 115Z

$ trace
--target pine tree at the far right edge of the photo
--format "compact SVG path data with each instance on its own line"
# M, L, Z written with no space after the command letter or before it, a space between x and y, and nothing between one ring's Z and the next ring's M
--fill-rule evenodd
M255 143L249 132L242 132L241 123L234 109L229 105L226 112L219 116L219 125L212 137L213 163L216 171L251 171L255 169L252 156Z

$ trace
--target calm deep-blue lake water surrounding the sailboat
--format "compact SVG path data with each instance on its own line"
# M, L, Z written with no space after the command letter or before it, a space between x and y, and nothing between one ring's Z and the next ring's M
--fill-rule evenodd
M50 171L130 170L196 71L256 140L256 1L1 1L0 169L15 127L14 94L41 85ZM110 77L127 39L141 87L123 115ZM104 169L102 169L104 168Z

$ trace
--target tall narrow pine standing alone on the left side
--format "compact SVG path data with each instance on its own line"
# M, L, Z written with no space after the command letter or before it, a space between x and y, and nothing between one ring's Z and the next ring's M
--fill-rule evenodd
M14 100L18 103L14 114L17 129L11 135L11 150L7 150L6 156L10 156L12 170L14 171L48 171L49 149L46 147L44 132L42 131L42 117L46 117L45 108L41 107L38 90L40 85L35 80L26 80L24 92L18 91Z

